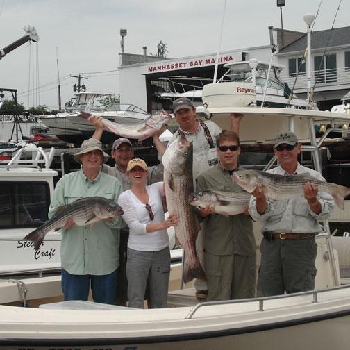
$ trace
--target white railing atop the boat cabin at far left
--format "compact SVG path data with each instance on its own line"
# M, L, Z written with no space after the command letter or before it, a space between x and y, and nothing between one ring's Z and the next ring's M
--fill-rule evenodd
M6 167L9 170L11 167L20 167L25 164L26 167L38 167L42 169L39 164L43 164L45 169L50 169L53 157L55 156L55 149L51 147L49 153L46 153L42 147L36 147L35 145L27 145L21 149L0 149L0 153L12 151L14 154L11 160L1 160L0 165ZM27 153L31 153L31 159L24 159Z

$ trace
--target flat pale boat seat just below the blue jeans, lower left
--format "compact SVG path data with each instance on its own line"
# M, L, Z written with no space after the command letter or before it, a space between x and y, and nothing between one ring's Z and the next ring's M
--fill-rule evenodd
M69 300L59 303L41 304L39 308L55 310L131 310L125 306L110 305L104 303L94 303L94 301Z

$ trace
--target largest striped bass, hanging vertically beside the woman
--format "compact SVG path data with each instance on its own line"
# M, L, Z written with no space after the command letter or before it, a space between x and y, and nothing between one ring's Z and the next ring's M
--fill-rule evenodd
M200 229L194 208L188 203L188 196L193 192L193 145L181 134L169 145L163 154L165 196L169 214L175 213L180 218L174 226L178 244L184 251L183 281L193 278L206 280L206 275L196 254L196 238Z

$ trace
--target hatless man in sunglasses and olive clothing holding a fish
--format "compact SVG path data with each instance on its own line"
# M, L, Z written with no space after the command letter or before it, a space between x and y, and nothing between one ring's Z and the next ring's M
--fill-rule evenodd
M216 138L219 165L197 178L197 191L242 192L231 174L238 163L240 139L234 131ZM248 210L248 208L246 208ZM208 206L198 210L206 249L208 301L252 298L256 285L256 242L249 213L220 215Z

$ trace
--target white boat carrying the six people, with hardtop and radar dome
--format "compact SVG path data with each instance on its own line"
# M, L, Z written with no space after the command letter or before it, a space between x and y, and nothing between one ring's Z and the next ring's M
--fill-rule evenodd
M252 126L272 139L275 130L269 128L275 128L274 124L281 130L297 132L301 123L307 126L305 135L310 141L310 145L303 145L303 151L313 153L318 170L318 149L324 139L317 142L314 123L332 124L349 118L318 110L231 106L232 97L245 104L254 96L242 97L242 91L235 94L237 89L232 89L237 83L226 84L222 86L231 87L226 94L228 101L219 97L220 106L215 106L215 94L210 95L203 114L224 124L229 113L244 113L243 140L256 135L256 130L250 130ZM184 289L169 293L169 308L135 310L84 301L61 302L59 276L1 281L0 348L276 349L283 344L284 349L291 350L345 349L350 341L350 285L339 287L338 258L327 222L317 240L318 290L279 297L198 303ZM171 281L179 281L179 265L172 265ZM24 297L32 308L13 306Z

